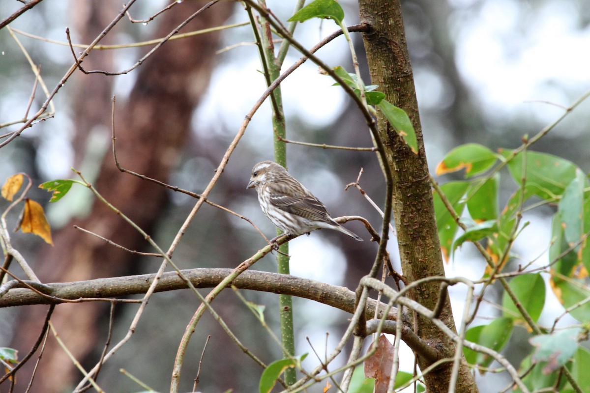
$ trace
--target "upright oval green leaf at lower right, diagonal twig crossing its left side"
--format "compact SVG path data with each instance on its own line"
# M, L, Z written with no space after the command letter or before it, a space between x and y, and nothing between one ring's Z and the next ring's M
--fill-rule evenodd
M545 305L545 282L539 273L525 274L510 280L510 288L520 304L529 313L530 318L537 322ZM502 300L504 316L514 320L522 320L520 312L506 292Z

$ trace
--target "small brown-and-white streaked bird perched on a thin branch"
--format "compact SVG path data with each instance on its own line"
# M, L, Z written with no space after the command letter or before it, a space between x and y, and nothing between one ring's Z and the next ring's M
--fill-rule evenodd
M325 228L363 241L335 222L322 202L273 161L262 161L254 166L246 189L253 187L258 191L258 202L264 214L287 235L309 235L312 230Z

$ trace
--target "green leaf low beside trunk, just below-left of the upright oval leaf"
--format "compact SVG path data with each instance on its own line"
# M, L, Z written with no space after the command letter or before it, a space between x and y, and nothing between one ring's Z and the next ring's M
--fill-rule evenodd
M465 338L468 341L486 346L496 352L500 352L512 335L514 327L510 318L494 319L489 325L476 326L466 332ZM473 351L470 348L463 348L467 362L487 367L493 362L493 358L481 352Z

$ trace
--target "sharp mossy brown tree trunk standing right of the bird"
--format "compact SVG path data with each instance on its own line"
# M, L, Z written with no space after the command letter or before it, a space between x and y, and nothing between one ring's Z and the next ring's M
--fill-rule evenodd
M371 84L379 85L386 100L408 113L418 137L419 151L414 154L386 118L382 114L378 115L379 133L394 177L393 211L402 271L408 282L444 276L401 6L399 0L359 0L359 8L360 20L371 26L371 31L363 34ZM440 295L439 292L440 283L432 282L418 286L409 296L431 310L439 296L445 296L440 319L455 330L448 293L445 291ZM453 341L431 321L418 316L414 318L414 323L415 332L438 349L440 358L453 357ZM418 365L425 369L429 364L418 356ZM443 364L425 376L427 391L448 391L452 365L452 362ZM477 391L473 375L466 364L461 366L455 391Z

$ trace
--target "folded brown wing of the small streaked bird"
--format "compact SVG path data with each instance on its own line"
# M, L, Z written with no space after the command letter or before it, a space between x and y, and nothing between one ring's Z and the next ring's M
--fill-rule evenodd
M326 206L295 179L268 184L268 191L270 203L278 209L309 220L333 223Z

